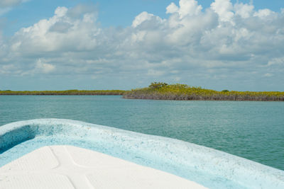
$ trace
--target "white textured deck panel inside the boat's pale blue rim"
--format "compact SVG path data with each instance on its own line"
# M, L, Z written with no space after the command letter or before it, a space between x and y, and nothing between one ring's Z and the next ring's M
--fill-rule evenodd
M195 182L72 146L32 151L0 168L0 189L204 188Z

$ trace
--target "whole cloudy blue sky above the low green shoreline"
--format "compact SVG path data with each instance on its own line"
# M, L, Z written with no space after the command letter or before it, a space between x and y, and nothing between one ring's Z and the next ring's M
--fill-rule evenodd
M283 0L1 0L0 90L284 91Z

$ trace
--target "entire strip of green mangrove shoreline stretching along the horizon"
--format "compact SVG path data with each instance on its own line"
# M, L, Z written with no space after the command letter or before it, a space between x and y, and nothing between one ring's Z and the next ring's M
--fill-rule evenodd
M124 90L0 91L0 96L122 96L127 99L174 101L284 101L278 91L214 91L185 84L151 83L146 88Z

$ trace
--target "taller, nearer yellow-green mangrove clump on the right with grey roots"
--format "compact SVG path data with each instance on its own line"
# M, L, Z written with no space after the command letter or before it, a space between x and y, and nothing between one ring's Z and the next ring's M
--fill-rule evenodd
M123 98L178 101L284 101L284 92L214 91L185 84L154 82L146 88L126 91Z

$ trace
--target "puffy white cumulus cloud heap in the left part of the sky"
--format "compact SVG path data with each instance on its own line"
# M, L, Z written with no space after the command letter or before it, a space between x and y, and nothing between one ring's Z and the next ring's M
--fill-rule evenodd
M58 7L49 19L19 30L12 38L11 50L25 55L58 50L89 50L97 45L95 14L86 13L83 18L70 18L68 9Z

